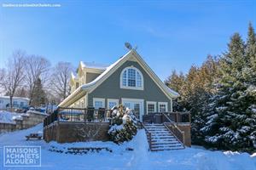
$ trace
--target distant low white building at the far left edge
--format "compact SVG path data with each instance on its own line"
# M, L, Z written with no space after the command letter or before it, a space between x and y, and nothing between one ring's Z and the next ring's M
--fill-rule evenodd
M28 98L13 97L13 107L15 109L22 109L23 107L27 107L28 103ZM9 104L9 96L0 96L0 110L6 110L9 108Z

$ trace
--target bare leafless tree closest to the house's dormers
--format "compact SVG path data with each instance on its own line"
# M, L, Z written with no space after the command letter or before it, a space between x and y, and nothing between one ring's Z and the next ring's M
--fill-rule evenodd
M68 62L59 62L55 65L51 78L51 88L60 99L65 99L70 93L69 80L73 66Z

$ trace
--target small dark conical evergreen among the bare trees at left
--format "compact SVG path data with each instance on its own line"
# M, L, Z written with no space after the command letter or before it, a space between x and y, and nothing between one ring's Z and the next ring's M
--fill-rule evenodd
M43 85L41 79L38 78L35 82L35 86L32 89L32 100L31 105L38 107L40 105L44 105L46 101L46 95L43 89Z

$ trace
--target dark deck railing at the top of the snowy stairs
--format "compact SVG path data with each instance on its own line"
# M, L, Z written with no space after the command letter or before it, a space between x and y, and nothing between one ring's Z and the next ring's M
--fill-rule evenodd
M143 116L143 122L163 123L163 122L190 123L189 112L163 112L150 113Z

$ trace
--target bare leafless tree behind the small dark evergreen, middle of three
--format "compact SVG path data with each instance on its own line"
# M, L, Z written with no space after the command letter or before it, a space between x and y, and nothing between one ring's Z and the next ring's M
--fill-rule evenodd
M28 96L32 100L35 82L40 78L42 84L48 81L50 62L42 56L30 55L26 57L26 85Z

